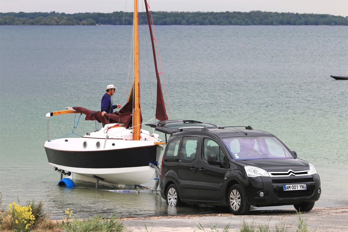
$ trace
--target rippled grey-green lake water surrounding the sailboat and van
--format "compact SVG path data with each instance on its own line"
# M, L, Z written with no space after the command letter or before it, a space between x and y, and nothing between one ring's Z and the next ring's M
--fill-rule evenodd
M322 195L315 207L348 205L348 81L330 77L348 75L347 26L155 30L172 119L268 131L316 167ZM53 219L62 218L66 208L79 218L225 210L172 208L160 195L113 193L105 186L95 190L94 184L82 181L72 189L57 186L60 174L48 164L43 147L45 115L67 106L98 111L109 84L117 86L114 104L124 105L131 81L128 69L133 69L131 31L130 26L0 27L1 207L17 198L22 203L43 200ZM150 42L147 48L151 51ZM153 118L151 96L155 99L154 69L152 65L148 71L146 61L141 60L143 122ZM73 126L72 115L52 117L50 139L71 133ZM93 130L95 123L82 119L75 133ZM152 187L153 181L145 185Z

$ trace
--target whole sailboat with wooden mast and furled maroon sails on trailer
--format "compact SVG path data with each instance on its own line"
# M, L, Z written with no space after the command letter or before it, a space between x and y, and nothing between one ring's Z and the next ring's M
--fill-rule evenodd
M145 0L152 50L157 78L156 119L168 120L157 70L156 52L153 43L148 4ZM66 110L46 114L84 114L85 120L104 123L101 130L81 137L50 140L47 136L45 151L50 165L61 174L73 179L92 181L98 184L138 185L149 182L157 167L163 144L158 134L150 134L142 128L139 72L139 19L138 1L134 1L134 81L127 103L119 110L104 117L100 111L83 107L66 107ZM62 175L61 175L62 178Z

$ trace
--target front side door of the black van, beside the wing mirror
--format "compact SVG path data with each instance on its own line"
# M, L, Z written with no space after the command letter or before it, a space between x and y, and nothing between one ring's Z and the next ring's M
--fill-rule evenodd
M222 201L224 198L224 177L229 167L229 161L220 145L211 138L203 139L198 170L199 199ZM208 156L215 154L217 160L223 162L224 167L208 163Z

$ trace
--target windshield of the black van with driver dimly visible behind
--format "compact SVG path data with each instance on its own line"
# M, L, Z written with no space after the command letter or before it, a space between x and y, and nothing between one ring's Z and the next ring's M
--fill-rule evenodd
M276 137L230 137L222 142L236 160L294 159Z

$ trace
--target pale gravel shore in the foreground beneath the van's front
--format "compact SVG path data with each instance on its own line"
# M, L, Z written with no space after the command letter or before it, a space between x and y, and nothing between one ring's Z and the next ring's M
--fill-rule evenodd
M301 219L307 222L308 231L341 232L348 231L348 206L313 208L309 212L301 213ZM295 209L286 210L253 210L248 215L235 216L233 214L204 214L204 215L176 215L144 218L124 218L124 225L133 232L190 232L198 230L201 224L205 231L211 231L215 226L219 231L229 224L229 231L239 231L243 220L248 225L269 224L271 231L281 222L286 225L286 231L296 231L298 215ZM311 230L310 230L311 229ZM217 230L216 230L217 231Z

